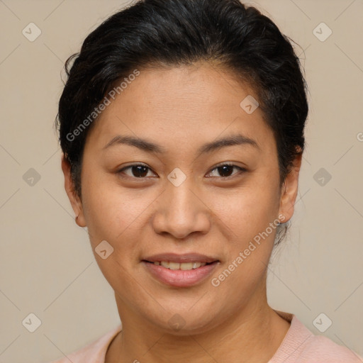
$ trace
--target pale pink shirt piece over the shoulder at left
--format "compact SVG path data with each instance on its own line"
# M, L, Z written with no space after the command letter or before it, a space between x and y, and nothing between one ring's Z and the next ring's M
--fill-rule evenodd
M113 338L116 337L116 335L121 331L121 328L122 326L118 325L116 328L109 331L105 335L102 335L101 337L99 337L99 339L91 342L89 345L86 345L82 349L67 354L65 357L62 357L50 363L104 363L107 348L111 344Z

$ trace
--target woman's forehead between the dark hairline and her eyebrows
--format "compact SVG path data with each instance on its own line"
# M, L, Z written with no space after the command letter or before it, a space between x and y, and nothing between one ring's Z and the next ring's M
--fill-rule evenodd
M252 87L216 66L140 69L124 86L91 130L88 139L99 146L119 134L174 145L237 132L261 144L272 138L262 111L241 107L243 100L257 99Z

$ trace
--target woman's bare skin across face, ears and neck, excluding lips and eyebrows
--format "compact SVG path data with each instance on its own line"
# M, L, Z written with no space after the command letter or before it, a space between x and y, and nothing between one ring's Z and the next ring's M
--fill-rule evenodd
M286 222L294 213L301 155L280 187L274 135L259 108L252 114L242 110L247 95L257 99L233 74L206 63L142 70L87 135L82 199L62 160L77 223L87 226L93 250L102 240L114 249L107 259L94 252L123 323L106 363L160 363L170 357L175 363L268 362L289 330L267 303L275 229L225 281L211 284L269 223L279 215ZM233 145L197 152L236 133L254 139L259 149ZM130 145L104 150L116 135L145 138L166 152ZM118 173L138 162L150 168L143 178L135 169ZM223 174L216 169L223 162L247 171ZM176 167L186 176L180 186L167 179ZM157 281L140 262L161 252L198 252L220 262L200 284L177 288ZM185 320L177 331L168 323L174 314Z

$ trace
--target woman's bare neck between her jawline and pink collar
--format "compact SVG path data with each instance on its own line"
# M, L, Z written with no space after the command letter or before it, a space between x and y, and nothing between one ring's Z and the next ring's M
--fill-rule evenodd
M111 342L108 362L174 363L241 362L267 363L277 351L290 324L255 294L248 305L211 330L173 335L155 328L118 301L123 330ZM117 300L117 298L116 298Z

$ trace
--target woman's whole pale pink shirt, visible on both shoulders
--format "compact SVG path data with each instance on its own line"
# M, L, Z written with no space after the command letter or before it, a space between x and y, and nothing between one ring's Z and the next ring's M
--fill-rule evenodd
M274 357L267 363L363 363L362 357L322 335L313 335L294 314L277 311L291 323ZM121 325L77 352L51 363L104 363L108 345Z

